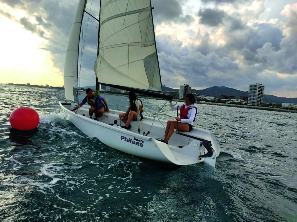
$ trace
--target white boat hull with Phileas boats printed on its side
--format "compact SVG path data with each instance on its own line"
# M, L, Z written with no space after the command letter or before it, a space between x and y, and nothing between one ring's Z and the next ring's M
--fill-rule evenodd
M151 128L150 133L145 136L142 132L141 134L138 133L136 121L131 123L132 127L129 130L121 128L123 123L119 121L120 111L110 110L105 112L96 121L89 118L88 107L83 106L72 112L71 109L74 108L74 105L73 102L68 102L67 105L64 102L60 102L62 110L75 126L88 136L96 137L102 143L114 149L164 163L190 165L205 161L215 167L215 159L219 155L219 146L211 131L193 127L191 132L185 133L198 137L201 140L173 133L167 145L156 140L157 138L162 138L165 134L164 126L166 127L167 123L165 120L161 120L161 123L155 121L152 126L154 119L144 117L141 121L141 128L144 132ZM118 121L117 125L113 124L114 120ZM207 153L207 149L202 145L203 140L211 142L213 151L211 157L200 157Z

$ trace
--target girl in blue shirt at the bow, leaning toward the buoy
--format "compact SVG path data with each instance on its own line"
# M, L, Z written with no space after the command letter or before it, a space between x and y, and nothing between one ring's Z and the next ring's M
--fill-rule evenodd
M79 107L81 107L83 104L85 104L87 102L91 106L90 109L89 109L89 115L90 115L90 118L92 119L93 113L95 112L95 102L96 102L95 101L95 96L94 96L93 90L90 89L90 88L86 89L86 94L87 95L86 95L85 98L83 98L83 101L80 104L78 104L78 106L75 107L71 111L77 110ZM104 111L105 112L109 112L108 105L106 103L106 100L102 96L99 96L99 101L98 101L98 117L100 115L102 115Z

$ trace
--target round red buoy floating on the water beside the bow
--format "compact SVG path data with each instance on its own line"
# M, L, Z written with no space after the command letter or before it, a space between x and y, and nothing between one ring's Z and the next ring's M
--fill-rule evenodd
M9 121L12 128L32 130L39 124L39 115L30 107L19 107L10 113Z

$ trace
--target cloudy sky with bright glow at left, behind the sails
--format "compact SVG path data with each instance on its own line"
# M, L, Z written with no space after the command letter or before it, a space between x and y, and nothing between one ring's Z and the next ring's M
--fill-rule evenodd
M296 0L151 2L163 85L247 91L250 83L262 83L265 94L297 97ZM0 83L64 85L77 3L0 0ZM96 5L89 1L86 10L98 17ZM97 55L97 22L88 16L84 21L83 33L93 38L83 39L80 86L94 85Z

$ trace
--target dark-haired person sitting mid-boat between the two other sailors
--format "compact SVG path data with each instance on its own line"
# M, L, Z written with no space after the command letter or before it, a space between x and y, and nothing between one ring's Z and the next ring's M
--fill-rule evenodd
M130 123L132 121L137 120L137 108L139 109L140 112L140 119L143 119L142 112L143 112L143 105L140 99L136 100L136 95L134 92L129 92L128 93L128 98L129 98L129 107L125 113L121 113L119 115L119 118L123 123L125 123L125 126L121 126L124 129L129 129L131 127ZM136 101L135 101L136 100Z

